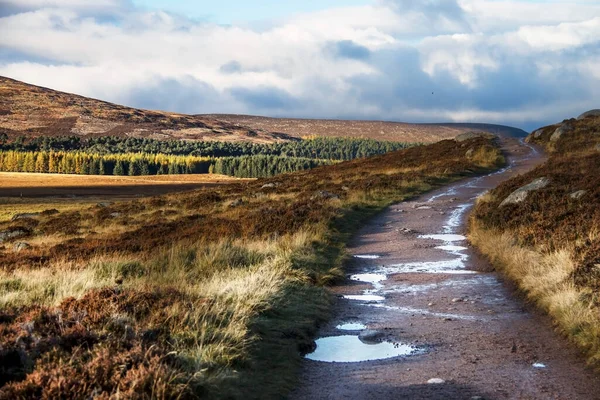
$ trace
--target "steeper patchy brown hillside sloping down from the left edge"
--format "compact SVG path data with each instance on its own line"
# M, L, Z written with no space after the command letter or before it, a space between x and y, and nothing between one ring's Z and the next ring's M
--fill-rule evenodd
M286 135L257 132L211 117L140 110L0 77L0 133L270 143Z

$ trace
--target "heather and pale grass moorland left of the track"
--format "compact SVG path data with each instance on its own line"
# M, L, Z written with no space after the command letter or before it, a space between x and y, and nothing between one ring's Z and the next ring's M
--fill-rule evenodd
M353 230L502 162L443 141L2 223L22 236L0 251L0 397L281 398Z

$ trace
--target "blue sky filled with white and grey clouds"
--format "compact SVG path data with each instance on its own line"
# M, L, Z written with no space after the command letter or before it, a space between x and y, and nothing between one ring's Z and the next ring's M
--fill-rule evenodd
M600 108L600 0L0 0L0 75L191 114L531 131Z

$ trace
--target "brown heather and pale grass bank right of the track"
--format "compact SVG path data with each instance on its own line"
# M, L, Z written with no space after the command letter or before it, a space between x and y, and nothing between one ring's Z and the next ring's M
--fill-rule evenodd
M598 132L600 118L589 117L530 135L529 142L549 151L549 160L480 199L470 237L600 367ZM542 177L546 187L520 203L500 205Z

